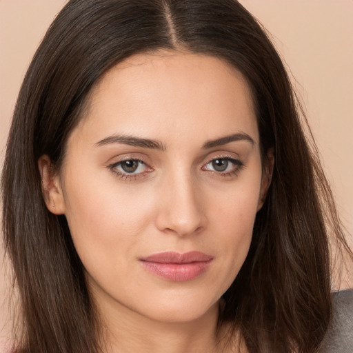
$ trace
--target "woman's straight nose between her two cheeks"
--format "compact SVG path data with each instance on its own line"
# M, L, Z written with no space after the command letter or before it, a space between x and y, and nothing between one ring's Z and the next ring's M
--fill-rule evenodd
M157 228L164 233L186 236L201 232L207 218L202 193L190 175L168 178L162 183Z

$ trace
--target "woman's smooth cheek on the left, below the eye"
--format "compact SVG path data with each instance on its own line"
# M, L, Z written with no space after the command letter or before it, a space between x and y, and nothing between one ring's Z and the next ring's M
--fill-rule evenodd
M85 175L67 177L65 185L65 216L75 248L84 264L91 258L117 259L121 252L134 249L150 221L148 198L141 192L117 190L111 175L107 179Z

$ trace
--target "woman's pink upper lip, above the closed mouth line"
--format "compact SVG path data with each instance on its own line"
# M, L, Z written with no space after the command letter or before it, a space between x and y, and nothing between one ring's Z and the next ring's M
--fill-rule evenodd
M141 261L155 262L155 263L192 263L205 262L212 260L213 257L199 251L190 251L183 254L179 252L159 252L141 258Z

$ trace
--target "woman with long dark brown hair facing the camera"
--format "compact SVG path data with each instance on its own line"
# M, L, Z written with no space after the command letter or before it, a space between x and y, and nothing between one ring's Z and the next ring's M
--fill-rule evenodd
M352 252L296 107L236 1L69 1L3 169L13 352L319 350Z

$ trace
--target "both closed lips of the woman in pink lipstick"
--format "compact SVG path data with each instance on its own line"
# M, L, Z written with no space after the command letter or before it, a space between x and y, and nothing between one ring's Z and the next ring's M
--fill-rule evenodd
M153 274L170 281L191 281L208 269L213 257L203 252L160 252L140 259Z

